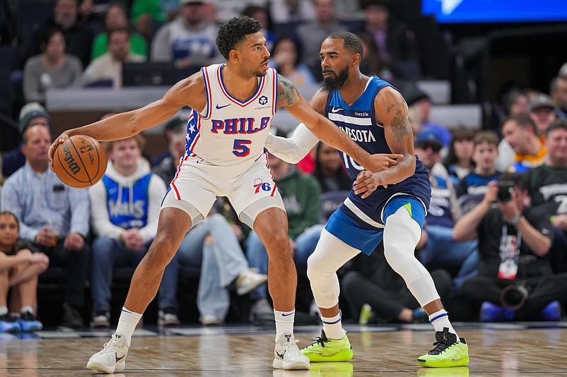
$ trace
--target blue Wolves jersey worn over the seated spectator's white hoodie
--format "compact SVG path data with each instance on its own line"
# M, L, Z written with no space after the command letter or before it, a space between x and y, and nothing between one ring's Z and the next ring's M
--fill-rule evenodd
M134 183L121 186L107 174L103 176L106 188L106 203L110 222L124 229L142 228L148 224L148 173Z

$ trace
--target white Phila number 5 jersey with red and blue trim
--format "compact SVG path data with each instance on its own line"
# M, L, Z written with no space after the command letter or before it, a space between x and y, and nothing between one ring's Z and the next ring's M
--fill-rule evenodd
M201 68L206 107L201 113L193 110L189 116L185 155L219 166L252 164L264 152L271 118L276 112L278 75L274 68L269 68L266 76L258 79L255 94L241 102L226 91L223 66Z

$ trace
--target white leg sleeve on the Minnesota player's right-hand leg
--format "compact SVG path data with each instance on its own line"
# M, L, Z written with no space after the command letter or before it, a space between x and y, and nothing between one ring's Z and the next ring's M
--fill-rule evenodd
M384 256L392 269L404 278L409 291L423 307L439 299L439 294L428 270L415 257L414 250L420 237L421 227L406 208L401 207L387 217Z

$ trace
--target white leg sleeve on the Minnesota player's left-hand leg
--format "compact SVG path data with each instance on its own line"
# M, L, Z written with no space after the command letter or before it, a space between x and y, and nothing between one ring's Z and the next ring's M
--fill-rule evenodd
M307 260L307 275L315 303L320 308L332 308L339 302L337 270L360 251L345 244L323 229L315 251Z

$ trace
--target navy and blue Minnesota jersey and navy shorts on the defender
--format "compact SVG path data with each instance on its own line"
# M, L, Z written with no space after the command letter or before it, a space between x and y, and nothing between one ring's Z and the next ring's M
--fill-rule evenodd
M351 105L346 104L338 91L329 92L325 114L342 131L361 146L366 152L392 153L386 143L384 126L376 123L374 100L378 92L387 86L392 86L376 76L370 77L361 97ZM358 162L344 152L339 152L341 160L351 179L356 179L358 173L363 171ZM416 171L398 184L387 188L380 186L368 198L362 199L353 191L339 210L351 217L363 228L380 229L384 225L382 210L393 197L409 196L417 198L427 209L431 198L431 184L429 172L416 156Z

